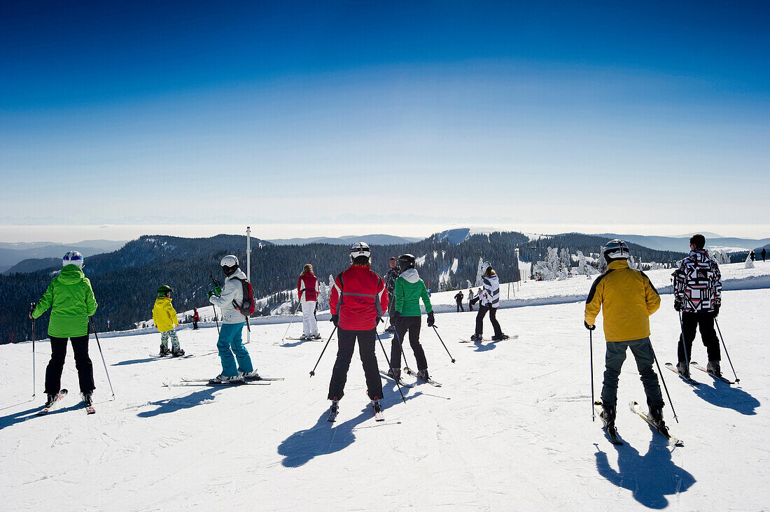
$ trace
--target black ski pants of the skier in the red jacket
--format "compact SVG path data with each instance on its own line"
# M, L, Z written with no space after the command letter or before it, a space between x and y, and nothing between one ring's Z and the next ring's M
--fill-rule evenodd
M332 380L329 383L329 400L340 400L344 396L347 370L353 359L353 350L358 340L358 353L363 363L363 373L367 379L367 395L371 400L383 397L383 383L380 368L377 366L377 356L374 354L374 341L377 330L345 330L337 329L337 358L332 370Z

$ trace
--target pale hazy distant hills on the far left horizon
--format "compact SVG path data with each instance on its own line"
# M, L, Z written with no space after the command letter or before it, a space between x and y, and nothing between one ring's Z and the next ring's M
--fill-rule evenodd
M54 258L62 259L67 251L79 251L83 256L94 256L101 253L112 253L126 245L125 240L83 240L76 243L53 243L53 242L19 242L19 243L0 243L0 273L12 269L17 263L25 259L44 259ZM35 263L27 263L22 269L13 270L15 272L29 272L24 269L41 269L45 266L36 268Z

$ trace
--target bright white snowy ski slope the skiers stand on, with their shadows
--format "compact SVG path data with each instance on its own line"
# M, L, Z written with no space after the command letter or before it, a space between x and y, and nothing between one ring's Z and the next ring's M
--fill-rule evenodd
M383 421L374 418L357 350L340 409L327 421L336 336L309 377L323 343L281 346L286 323L253 322L246 344L260 374L284 380L246 385L204 382L221 370L213 327L179 330L182 347L197 355L184 360L148 358L157 333L100 336L115 400L92 341L98 414L82 412L70 353L62 376L69 394L38 416L48 341L36 343L34 400L31 343L2 346L0 508L767 510L770 289L735 289L725 280L718 320L741 381L728 384L692 366L702 382L690 386L663 370L676 363L680 326L665 276L651 274L663 293L651 340L678 423L668 399L664 419L684 447L671 446L628 407L636 400L647 412L630 353L615 422L622 444L609 442L598 416L592 420L579 297L591 280L527 282L517 291L520 302L504 300L497 313L504 332L518 339L499 343L459 343L473 333L476 313L450 313L454 293L434 293L437 329L457 363L423 324L430 376L442 386L402 372L414 380L401 388L403 402L396 383L383 377ZM600 315L593 334L596 400L604 370L601 321ZM319 324L325 343L332 326ZM484 328L488 338L489 323ZM291 336L301 333L296 321L290 329ZM390 353L390 338L383 344ZM403 349L413 365L408 340ZM705 360L699 336L692 352L692 360ZM377 358L386 371L379 342ZM735 380L724 353L721 370Z

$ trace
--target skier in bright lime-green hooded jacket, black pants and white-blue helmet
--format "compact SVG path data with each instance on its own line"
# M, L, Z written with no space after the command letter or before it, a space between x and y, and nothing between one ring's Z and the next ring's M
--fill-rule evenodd
M45 369L45 407L55 403L62 389L62 370L67 355L67 340L72 343L75 368L78 370L80 393L85 405L92 404L94 372L89 357L89 316L96 313L98 304L91 289L91 281L83 274L83 256L70 251L62 258L62 270L51 279L30 318L38 318L51 308L49 338L51 360Z

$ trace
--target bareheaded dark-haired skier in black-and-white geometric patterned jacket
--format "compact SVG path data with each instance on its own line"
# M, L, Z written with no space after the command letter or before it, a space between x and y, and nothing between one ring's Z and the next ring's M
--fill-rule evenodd
M681 336L678 343L677 370L690 376L692 342L696 330L701 331L701 340L708 353L706 370L721 376L719 362L719 339L714 330L714 319L721 306L721 273L719 266L708 256L704 247L705 236L694 235L690 239L690 255L681 260L674 276L674 309L681 311ZM685 346L687 355L685 356Z

